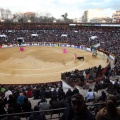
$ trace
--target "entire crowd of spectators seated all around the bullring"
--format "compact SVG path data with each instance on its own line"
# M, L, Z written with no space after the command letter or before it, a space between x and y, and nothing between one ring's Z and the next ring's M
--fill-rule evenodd
M31 29L31 30L0 30L0 34L5 34L7 37L0 37L0 45L3 44L13 44L17 45L18 37L24 37L26 43L45 43L45 42L58 42L58 43L68 43L70 45L85 45L90 47L94 44L100 43L100 49L108 51L111 54L114 54L116 57L114 69L110 69L108 65L105 69L102 66L95 66L93 68L88 68L85 70L74 70L70 72L62 73L62 79L67 82L80 82L82 85L86 81L94 81L95 91L89 89L83 101L79 101L79 98L82 96L79 93L77 88L74 90L68 89L65 93L62 89L61 83L54 84L44 84L44 85L1 85L0 86L0 115L8 113L18 113L18 112L30 112L46 109L56 109L67 107L65 113L61 117L61 120L79 120L79 115L77 114L74 105L80 105L82 110L85 110L85 116L82 116L85 120L94 120L93 116L89 110L87 110L84 103L86 102L106 102L103 106L97 106L95 109L96 120L119 120L119 109L116 107L119 104L116 101L120 100L120 83L119 80L116 80L113 84L110 81L111 75L120 75L120 28L119 27L76 27L76 28L40 28L40 29ZM38 36L32 37L31 34L38 34ZM62 34L67 34L67 37L62 37ZM97 36L94 40L90 39L91 36ZM101 81L96 81L97 78L102 77ZM74 85L73 85L74 86ZM96 98L97 92L101 89L107 88L108 94L114 94L114 97L109 97L104 91L101 92L101 96ZM40 99L38 104L34 106L34 109L31 107L31 103L28 98ZM47 98L50 98L47 101ZM78 100L79 99L79 100ZM113 100L114 99L114 100ZM111 107L110 107L111 106ZM114 109L112 114L110 110ZM98 112L100 110L100 112ZM81 111L81 110L80 110ZM105 112L104 112L105 111ZM74 114L71 114L74 113ZM104 112L104 114L103 114ZM84 111L80 112L80 115ZM70 118L70 115L71 118ZM75 115L75 116L74 116ZM37 118L34 118L37 116ZM88 117L90 116L90 117ZM18 116L19 117L19 116ZM44 114L32 113L25 117L29 117L30 120L42 119L45 120ZM107 119L105 119L107 118ZM7 120L7 118L1 118ZM14 118L18 119L17 116ZM20 117L19 117L20 119Z

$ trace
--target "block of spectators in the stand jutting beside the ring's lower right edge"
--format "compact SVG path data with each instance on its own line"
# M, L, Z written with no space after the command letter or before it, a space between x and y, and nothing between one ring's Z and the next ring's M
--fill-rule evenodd
M97 82L105 79L105 77L110 77L110 65L106 68L102 68L101 65L98 67L92 67L85 70L75 69L74 71L65 72L61 74L61 79L70 85L80 85L84 86L86 82Z

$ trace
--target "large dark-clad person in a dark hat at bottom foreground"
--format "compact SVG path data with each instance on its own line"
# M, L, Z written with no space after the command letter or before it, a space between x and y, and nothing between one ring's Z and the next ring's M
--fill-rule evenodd
M87 109L84 97L74 94L69 105L60 120L95 120L95 116Z

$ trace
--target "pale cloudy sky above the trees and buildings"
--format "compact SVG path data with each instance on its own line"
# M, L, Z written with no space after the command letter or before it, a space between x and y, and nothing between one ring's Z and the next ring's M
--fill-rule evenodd
M120 10L119 0L0 0L0 8L16 12L50 13L55 18L68 13L68 18L80 18L85 10L100 8L104 15Z

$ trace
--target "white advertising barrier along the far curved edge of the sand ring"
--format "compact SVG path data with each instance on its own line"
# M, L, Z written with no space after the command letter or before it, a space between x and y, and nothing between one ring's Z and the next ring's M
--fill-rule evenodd
M69 48L75 48L75 49L81 49L81 50L86 50L89 52L92 52L91 48L86 47L85 45L80 45L80 46L76 46L76 45L70 45L67 43L50 43L50 42L38 42L38 43L25 43L22 45L19 44L10 44L10 45L2 45L0 48L11 48L11 47L26 47L26 46L54 46L54 47L69 47ZM103 58L108 58L109 61L113 61L113 63L115 63L116 61L116 56L113 54L108 53L107 51L104 51L102 49L98 49L97 50L97 54L100 55Z

